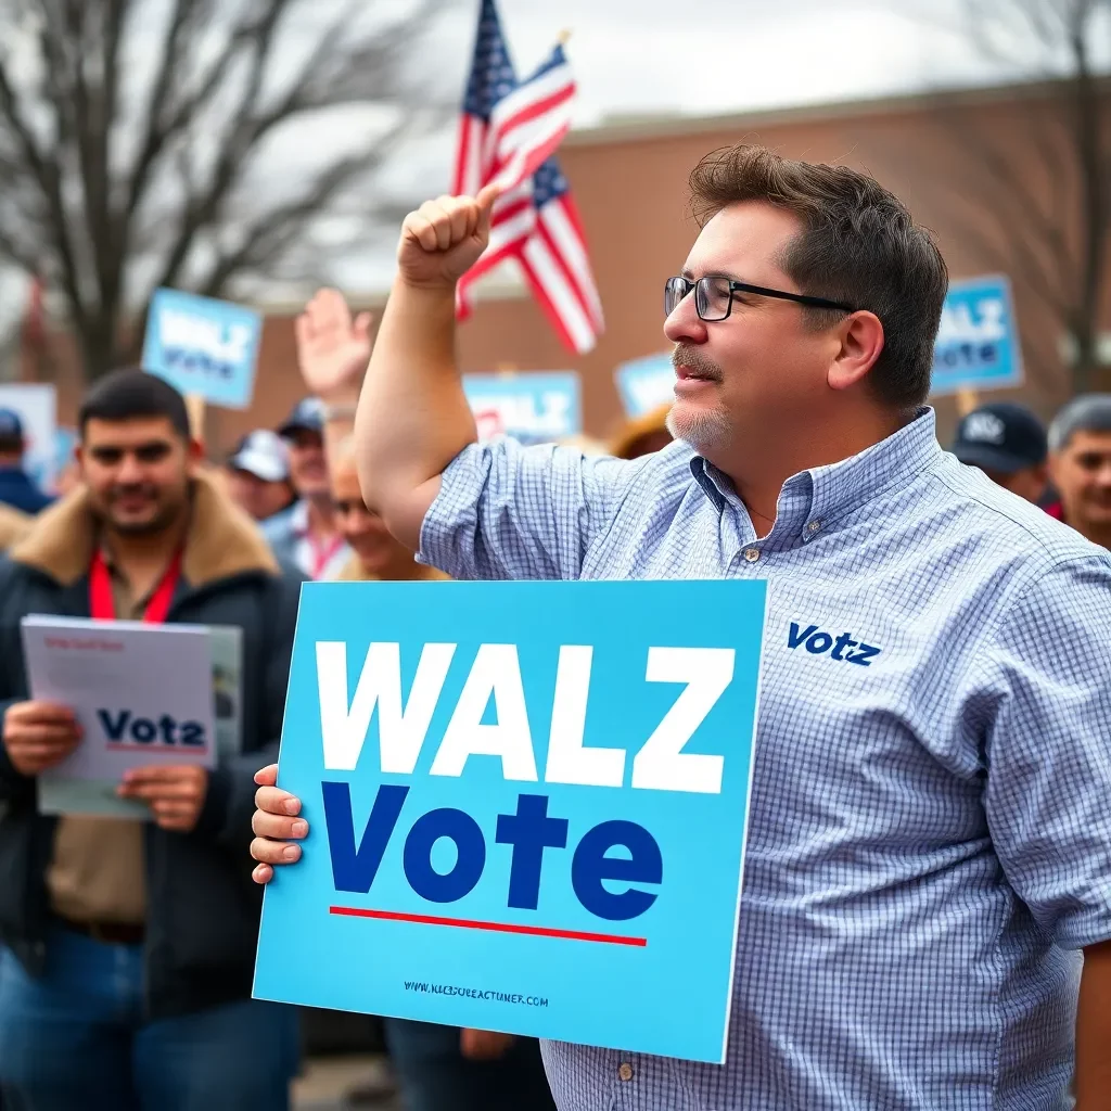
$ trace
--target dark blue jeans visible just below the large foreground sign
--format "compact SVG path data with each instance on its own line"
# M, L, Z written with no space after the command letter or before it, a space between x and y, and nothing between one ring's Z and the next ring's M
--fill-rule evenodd
M470 1061L458 1027L383 1021L406 1111L556 1111L536 1039L516 1038L496 1061Z

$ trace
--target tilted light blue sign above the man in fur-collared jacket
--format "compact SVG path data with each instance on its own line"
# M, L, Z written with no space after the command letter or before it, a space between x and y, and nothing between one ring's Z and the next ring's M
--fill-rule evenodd
M262 314L228 301L176 289L157 290L150 302L142 363L182 393L214 406L251 403Z

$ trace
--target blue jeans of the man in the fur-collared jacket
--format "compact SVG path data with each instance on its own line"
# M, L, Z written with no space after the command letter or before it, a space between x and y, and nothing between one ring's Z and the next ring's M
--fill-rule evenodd
M42 979L0 947L3 1111L287 1111L297 1012L142 1015L141 945L52 931Z

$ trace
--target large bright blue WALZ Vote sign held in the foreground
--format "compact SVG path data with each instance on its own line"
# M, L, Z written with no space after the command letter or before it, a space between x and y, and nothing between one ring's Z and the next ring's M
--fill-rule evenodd
M765 589L306 584L256 997L721 1062Z

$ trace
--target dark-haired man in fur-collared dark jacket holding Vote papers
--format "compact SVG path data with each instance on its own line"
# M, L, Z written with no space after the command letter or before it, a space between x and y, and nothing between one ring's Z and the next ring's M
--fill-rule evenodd
M102 378L78 458L82 486L0 564L0 1092L37 1111L278 1109L296 1021L249 998L259 910L239 847L260 752L277 750L300 579L200 473L184 400L162 379ZM186 745L211 752L214 738L188 708L140 708L148 690L113 670L126 647L111 625L52 638L59 670L102 692L87 728L32 699L29 614L242 630L242 751L189 762ZM146 662L174 688L172 660ZM212 719L212 702L199 709ZM79 747L89 757L98 719L99 743L130 762L116 789L139 817L42 812L40 777Z

